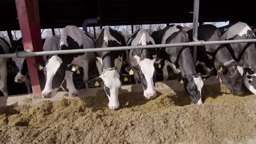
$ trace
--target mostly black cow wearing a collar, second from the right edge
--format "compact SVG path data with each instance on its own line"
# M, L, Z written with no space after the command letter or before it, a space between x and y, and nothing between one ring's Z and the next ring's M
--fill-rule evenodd
M192 30L188 31L192 39ZM198 28L198 39L204 41L222 40L219 29L213 25L202 25ZM197 47L197 63L205 69L216 68L220 81L230 89L232 94L241 95L243 86L243 63L235 62L225 45L205 45ZM208 71L209 72L209 71Z

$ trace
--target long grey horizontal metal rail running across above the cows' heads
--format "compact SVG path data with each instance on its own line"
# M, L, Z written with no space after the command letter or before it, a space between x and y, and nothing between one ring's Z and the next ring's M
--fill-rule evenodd
M16 52L9 54L2 54L0 58L9 57L34 57L44 55L63 55L68 53L84 53L84 52L100 52L100 51L120 51L120 50L133 50L133 49L153 49L160 47L176 47L176 46L204 46L215 44L232 44L232 43L256 43L256 39L242 39L242 40L222 40L222 41L193 41L189 43L177 44L160 44L160 45L138 45L138 46L117 46L117 47L102 47L90 49L77 49L77 50L61 50L61 51L41 51L41 52Z

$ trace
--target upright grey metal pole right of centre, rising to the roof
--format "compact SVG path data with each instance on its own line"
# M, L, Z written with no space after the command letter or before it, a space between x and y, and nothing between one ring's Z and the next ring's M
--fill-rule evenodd
M193 41L197 41L198 17L199 17L199 0L194 0ZM194 64L196 64L196 49L197 47L194 46L194 52L193 52Z

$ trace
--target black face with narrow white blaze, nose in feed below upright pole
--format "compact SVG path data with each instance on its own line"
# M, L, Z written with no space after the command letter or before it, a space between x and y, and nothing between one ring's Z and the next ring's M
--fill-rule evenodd
M184 83L185 91L188 93L192 104L202 104L201 91L203 80L206 80L210 75L196 74L193 76L178 77L178 81Z

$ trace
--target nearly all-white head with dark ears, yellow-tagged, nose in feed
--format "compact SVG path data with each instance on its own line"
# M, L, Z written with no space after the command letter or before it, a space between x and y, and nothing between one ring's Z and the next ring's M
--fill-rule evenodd
M109 100L109 108L112 110L119 108L118 93L121 87L121 81L128 81L129 76L119 74L117 70L109 68L103 71L101 76L89 81L90 85L100 86L104 83L104 91Z

